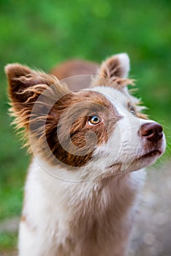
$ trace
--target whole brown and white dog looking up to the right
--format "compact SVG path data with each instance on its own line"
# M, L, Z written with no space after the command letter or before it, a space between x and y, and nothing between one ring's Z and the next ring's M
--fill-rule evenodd
M20 64L5 72L14 123L33 152L19 255L126 255L143 168L166 144L161 125L129 94L129 57L101 66L69 61L54 75ZM56 78L79 74L70 80L74 91L69 79ZM96 75L91 84L86 75Z

